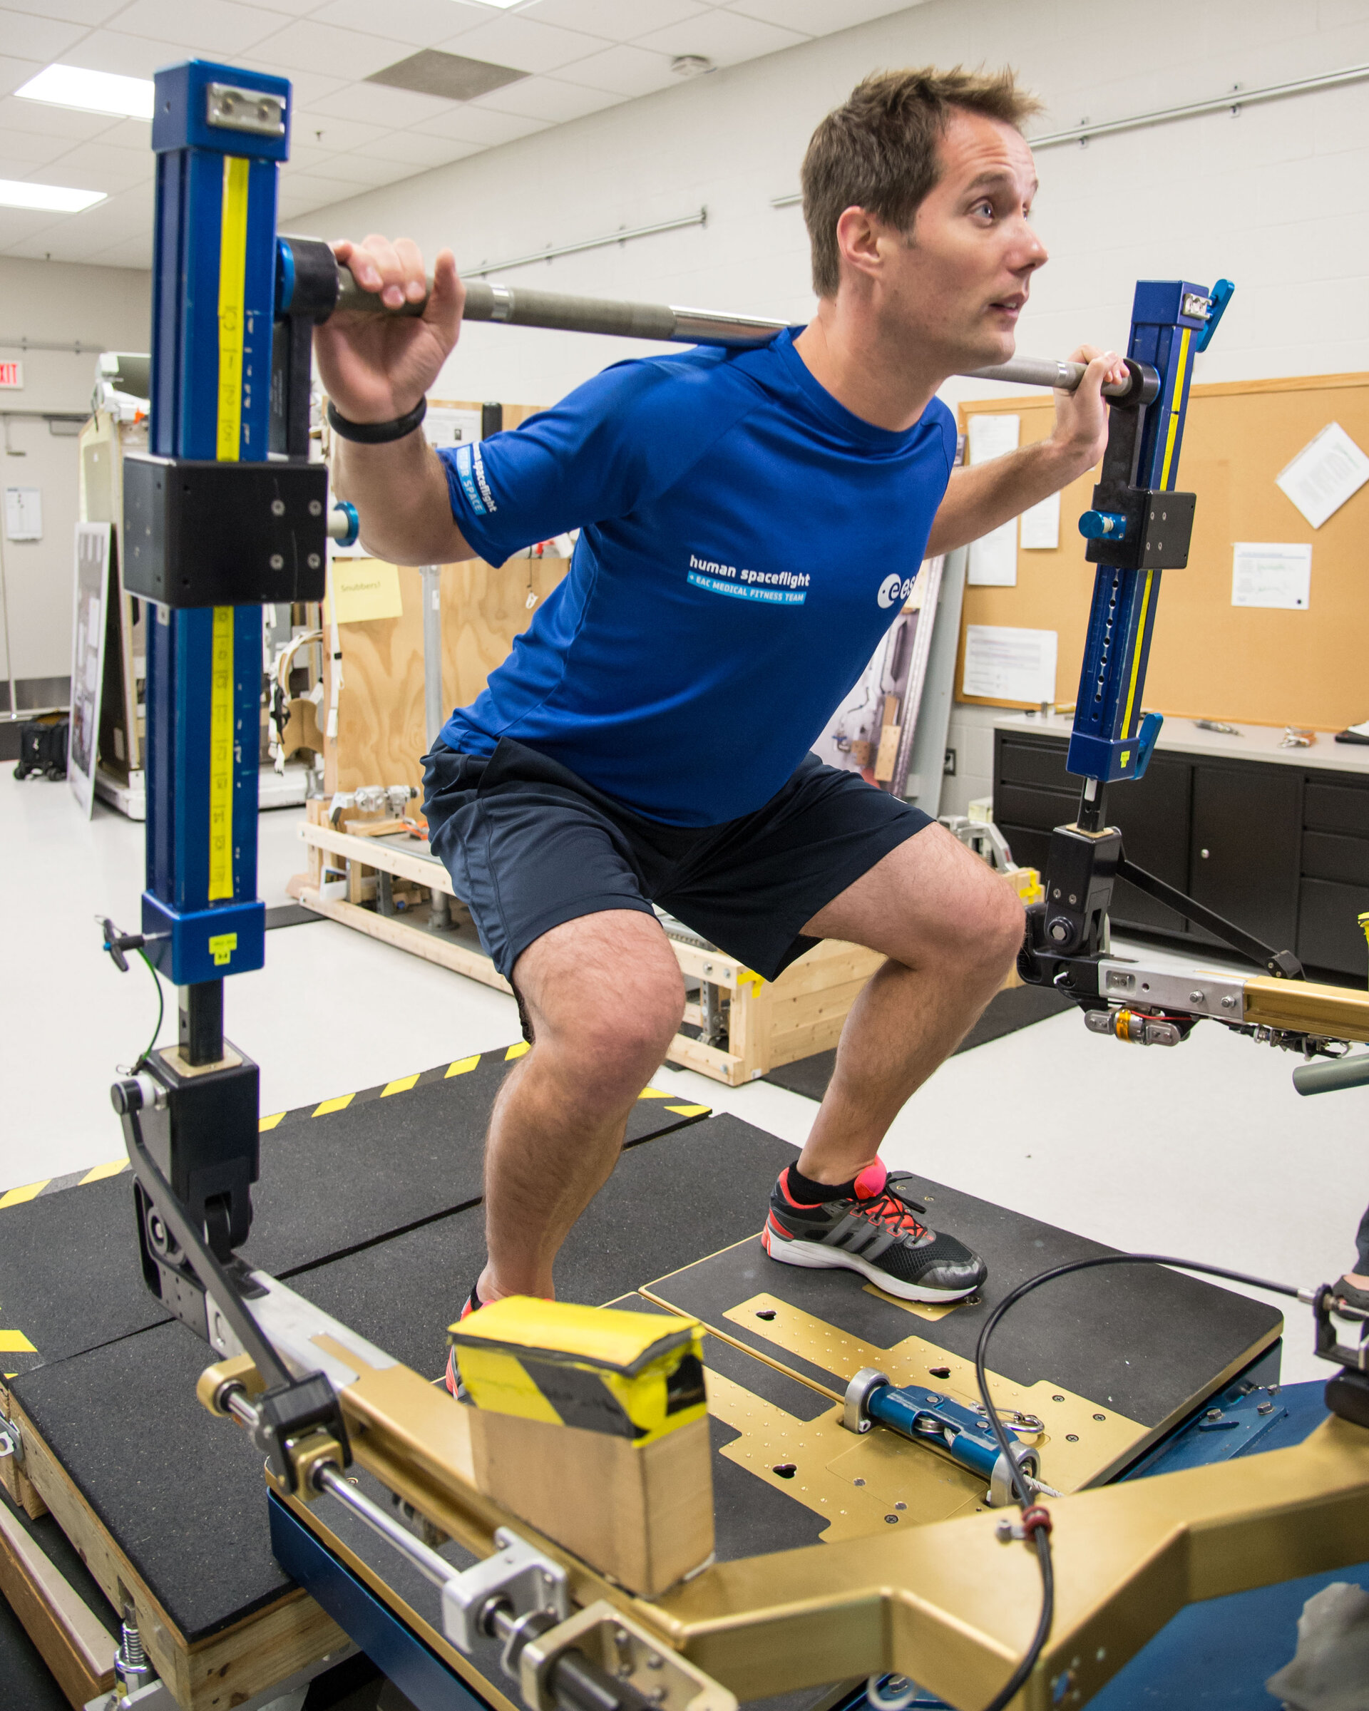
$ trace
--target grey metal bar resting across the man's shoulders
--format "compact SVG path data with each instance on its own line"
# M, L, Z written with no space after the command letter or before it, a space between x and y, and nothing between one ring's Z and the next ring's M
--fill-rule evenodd
M370 315L421 315L423 303L385 308L371 291L361 291L346 267L337 269L337 310ZM431 281L428 282L431 289ZM337 311L335 311L337 313ZM469 322L503 327L546 327L553 332L597 332L618 339L655 339L662 344L767 344L785 322L760 315L719 315L673 303L621 303L614 298L570 298L558 291L529 291L522 286L491 286L472 281L465 287ZM1059 387L1073 392L1083 378L1083 363L1058 363L1023 356L993 368L967 370L970 380L1001 380L1018 387ZM1129 383L1104 387L1109 397L1126 397Z

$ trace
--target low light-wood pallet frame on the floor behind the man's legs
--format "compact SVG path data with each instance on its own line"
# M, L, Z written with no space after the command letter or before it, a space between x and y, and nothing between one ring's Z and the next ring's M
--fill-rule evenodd
M323 802L311 802L311 820L299 828L310 850L310 873L298 888L306 909L469 980L493 986L500 992L512 991L479 948L471 917L452 890L447 869L424 844L404 847L356 832L339 832L320 823L323 808ZM346 885L325 883L327 871L342 873ZM390 915L366 907L376 893L380 873L426 897L433 891L447 897L457 922L453 931L433 931L424 905ZM346 897L334 895L342 890ZM796 1057L830 1051L840 1039L856 996L883 962L878 951L842 939L825 939L785 968L779 980L762 980L736 956L722 951L681 939L671 939L671 950L684 979L700 982L700 1001L684 1006L684 1021L703 1025L703 987L714 987L715 1008L724 1016L722 1033L715 1039L726 1039L726 1044L707 1044L703 1039L676 1033L667 1061L698 1069L726 1086L741 1086Z

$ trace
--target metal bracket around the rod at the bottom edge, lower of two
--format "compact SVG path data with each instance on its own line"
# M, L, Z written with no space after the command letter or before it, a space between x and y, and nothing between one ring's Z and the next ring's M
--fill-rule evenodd
M738 1708L726 1687L599 1598L524 1646L519 1677L529 1711L558 1711L551 1678L560 1658L572 1649L662 1711Z

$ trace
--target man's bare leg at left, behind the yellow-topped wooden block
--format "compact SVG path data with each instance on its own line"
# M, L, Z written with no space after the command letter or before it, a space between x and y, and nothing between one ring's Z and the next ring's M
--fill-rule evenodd
M669 939L631 909L544 932L515 963L513 982L534 1044L489 1119L483 1302L554 1295L556 1252L618 1162L628 1114L684 1009Z

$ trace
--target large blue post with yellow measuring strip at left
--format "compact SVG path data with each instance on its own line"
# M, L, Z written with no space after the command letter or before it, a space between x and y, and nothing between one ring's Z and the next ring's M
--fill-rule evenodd
M151 450L267 457L276 180L289 84L192 60L157 72ZM154 606L142 929L180 987L260 968L262 613ZM221 991L221 987L217 989Z

